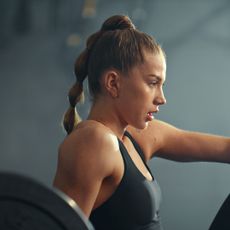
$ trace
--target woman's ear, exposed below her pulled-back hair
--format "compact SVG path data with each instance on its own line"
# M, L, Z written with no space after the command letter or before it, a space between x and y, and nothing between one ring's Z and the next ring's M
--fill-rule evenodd
M119 97L121 76L118 71L106 71L104 76L104 86L106 91L113 97Z

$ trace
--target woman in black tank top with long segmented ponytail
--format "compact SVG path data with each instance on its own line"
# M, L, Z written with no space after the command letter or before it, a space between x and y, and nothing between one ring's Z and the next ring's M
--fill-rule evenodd
M230 161L230 140L177 129L154 119L166 103L165 54L127 16L107 19L75 65L54 186L72 197L99 230L155 230L161 192L147 163ZM93 98L87 120L75 106L83 81Z

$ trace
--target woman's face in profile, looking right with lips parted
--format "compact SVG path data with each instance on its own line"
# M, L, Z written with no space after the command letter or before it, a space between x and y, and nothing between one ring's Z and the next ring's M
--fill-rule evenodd
M144 129L154 119L159 106L166 103L163 84L166 62L162 54L145 52L145 61L123 76L119 92L119 110L124 124Z

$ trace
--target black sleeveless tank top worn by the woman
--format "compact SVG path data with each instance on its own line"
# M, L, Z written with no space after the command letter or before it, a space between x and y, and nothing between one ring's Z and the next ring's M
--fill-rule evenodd
M149 170L137 142L128 132L125 135ZM153 176L149 181L142 175L124 144L118 141L124 161L123 178L112 196L92 211L90 221L96 230L163 230L159 216L161 191L157 181Z

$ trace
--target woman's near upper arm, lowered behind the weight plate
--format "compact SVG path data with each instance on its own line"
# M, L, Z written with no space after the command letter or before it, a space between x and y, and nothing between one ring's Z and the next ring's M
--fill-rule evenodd
M105 135L84 133L66 140L59 151L54 186L74 199L89 216L104 178L113 172L114 143Z

